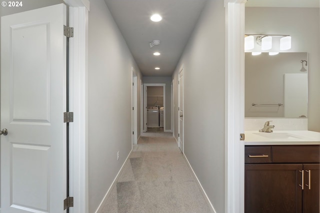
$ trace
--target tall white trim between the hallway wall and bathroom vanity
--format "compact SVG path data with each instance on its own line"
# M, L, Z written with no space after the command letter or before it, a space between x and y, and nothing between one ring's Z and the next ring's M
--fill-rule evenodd
M225 0L225 213L244 212L244 3Z

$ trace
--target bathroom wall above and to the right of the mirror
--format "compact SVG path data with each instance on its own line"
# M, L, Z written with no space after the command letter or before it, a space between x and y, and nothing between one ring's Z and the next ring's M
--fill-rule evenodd
M292 45L287 51L308 53L308 130L317 132L320 132L319 14L319 8L245 7L246 34L289 34Z

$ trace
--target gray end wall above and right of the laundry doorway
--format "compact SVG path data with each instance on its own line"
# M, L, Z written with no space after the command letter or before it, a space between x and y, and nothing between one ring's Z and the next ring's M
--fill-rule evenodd
M143 83L165 84L165 130L171 130L171 77L143 76Z

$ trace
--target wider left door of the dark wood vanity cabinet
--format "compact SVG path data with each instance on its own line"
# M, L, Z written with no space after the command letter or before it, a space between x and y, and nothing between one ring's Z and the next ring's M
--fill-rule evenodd
M246 164L245 213L302 213L302 164Z

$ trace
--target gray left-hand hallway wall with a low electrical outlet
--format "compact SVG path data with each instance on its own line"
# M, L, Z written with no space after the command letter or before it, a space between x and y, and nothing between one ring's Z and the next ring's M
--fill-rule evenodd
M88 23L88 198L94 213L131 151L131 67L137 82L141 75L103 0L90 0Z

